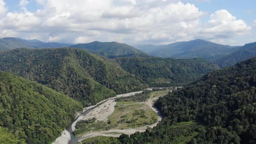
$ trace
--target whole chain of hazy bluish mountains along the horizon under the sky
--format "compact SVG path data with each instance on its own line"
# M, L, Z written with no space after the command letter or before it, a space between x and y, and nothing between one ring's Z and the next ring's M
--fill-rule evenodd
M20 38L0 39L0 52L25 47L29 49L70 47L83 49L87 52L104 56L108 59L118 57L173 57L177 59L203 58L213 62L220 68L235 65L237 62L256 56L255 43L244 46L229 46L212 43L202 39L187 42L177 42L168 45L137 45L136 48L125 43L98 42L65 44L43 43L37 39L26 40Z

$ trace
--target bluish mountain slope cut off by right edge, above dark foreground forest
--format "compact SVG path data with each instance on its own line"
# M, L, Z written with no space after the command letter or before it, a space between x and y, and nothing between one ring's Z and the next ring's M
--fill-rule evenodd
M236 52L231 53L223 58L216 59L213 63L219 65L220 68L235 65L237 62L241 62L245 59L249 59L256 56L256 42L248 43L241 47Z

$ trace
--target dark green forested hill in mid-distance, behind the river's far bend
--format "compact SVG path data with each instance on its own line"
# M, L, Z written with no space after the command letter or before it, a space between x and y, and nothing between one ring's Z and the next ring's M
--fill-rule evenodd
M177 86L187 85L200 79L207 72L218 69L216 65L204 59L173 58L116 58L113 59L122 69L130 72L151 85Z

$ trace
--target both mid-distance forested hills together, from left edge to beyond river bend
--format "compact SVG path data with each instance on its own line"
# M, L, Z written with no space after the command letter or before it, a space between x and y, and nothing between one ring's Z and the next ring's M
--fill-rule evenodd
M0 70L38 82L90 106L150 86L185 85L217 69L203 59L106 59L82 49L13 49L0 53Z

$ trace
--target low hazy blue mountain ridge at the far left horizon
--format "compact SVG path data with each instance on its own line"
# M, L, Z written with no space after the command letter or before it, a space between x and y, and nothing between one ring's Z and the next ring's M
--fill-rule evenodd
M41 49L41 48L59 48L68 47L71 44L66 43L43 43L37 39L20 39L7 37L0 39L0 52L16 49L16 48L28 48L28 49Z

